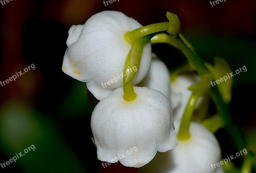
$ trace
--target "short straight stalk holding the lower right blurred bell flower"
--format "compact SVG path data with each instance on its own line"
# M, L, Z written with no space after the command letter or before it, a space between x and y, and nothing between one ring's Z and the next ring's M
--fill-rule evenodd
M196 94L192 94L188 100L188 104L184 110L184 113L180 122L180 130L177 135L180 140L188 140L190 138L189 126L190 126L192 114L196 107L197 99L198 99L198 96Z

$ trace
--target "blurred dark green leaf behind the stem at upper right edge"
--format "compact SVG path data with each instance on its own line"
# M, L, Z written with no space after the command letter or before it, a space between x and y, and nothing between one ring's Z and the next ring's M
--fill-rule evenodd
M256 42L250 39L213 37L212 35L185 35L191 41L197 54L204 61L213 63L212 57L221 57L230 65L231 69L246 66L247 72L234 77L234 87L247 86L256 83Z

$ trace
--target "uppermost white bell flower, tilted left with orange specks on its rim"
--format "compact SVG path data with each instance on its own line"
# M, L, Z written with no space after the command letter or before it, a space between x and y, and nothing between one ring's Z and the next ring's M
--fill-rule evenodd
M116 88L123 86L123 70L131 44L124 34L142 25L122 12L103 11L90 17L84 25L72 26L68 31L68 48L62 70L67 75L86 82L95 98L101 100ZM148 73L151 63L151 44L143 49L140 67L133 84L139 83Z

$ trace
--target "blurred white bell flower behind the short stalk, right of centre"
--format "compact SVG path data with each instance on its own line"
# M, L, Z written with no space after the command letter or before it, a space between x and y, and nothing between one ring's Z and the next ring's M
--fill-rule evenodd
M187 106L188 99L192 92L188 90L188 87L194 85L200 81L200 77L195 73L184 73L176 76L175 80L171 82L170 100L173 106L173 115L175 119L180 120L185 107ZM199 108L201 104L207 105L207 97L201 96L197 103L196 108ZM205 101L205 102L204 102Z

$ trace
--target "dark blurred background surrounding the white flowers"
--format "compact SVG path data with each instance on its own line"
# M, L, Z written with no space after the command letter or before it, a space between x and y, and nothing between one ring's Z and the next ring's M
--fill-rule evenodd
M68 29L104 10L121 11L142 25L167 21L166 12L175 13L181 33L202 59L212 63L213 57L224 58L233 71L246 66L247 72L234 77L230 109L246 141L255 143L255 9L253 0L226 0L213 7L207 0L119 0L107 7L101 0L0 4L0 81L31 64L36 67L0 85L0 162L36 147L0 172L136 172L119 163L103 169L91 140L95 103L85 83L61 70ZM171 46L153 45L152 50L170 70L185 62ZM225 130L216 135L223 157L237 152ZM241 160L235 164L241 166Z

